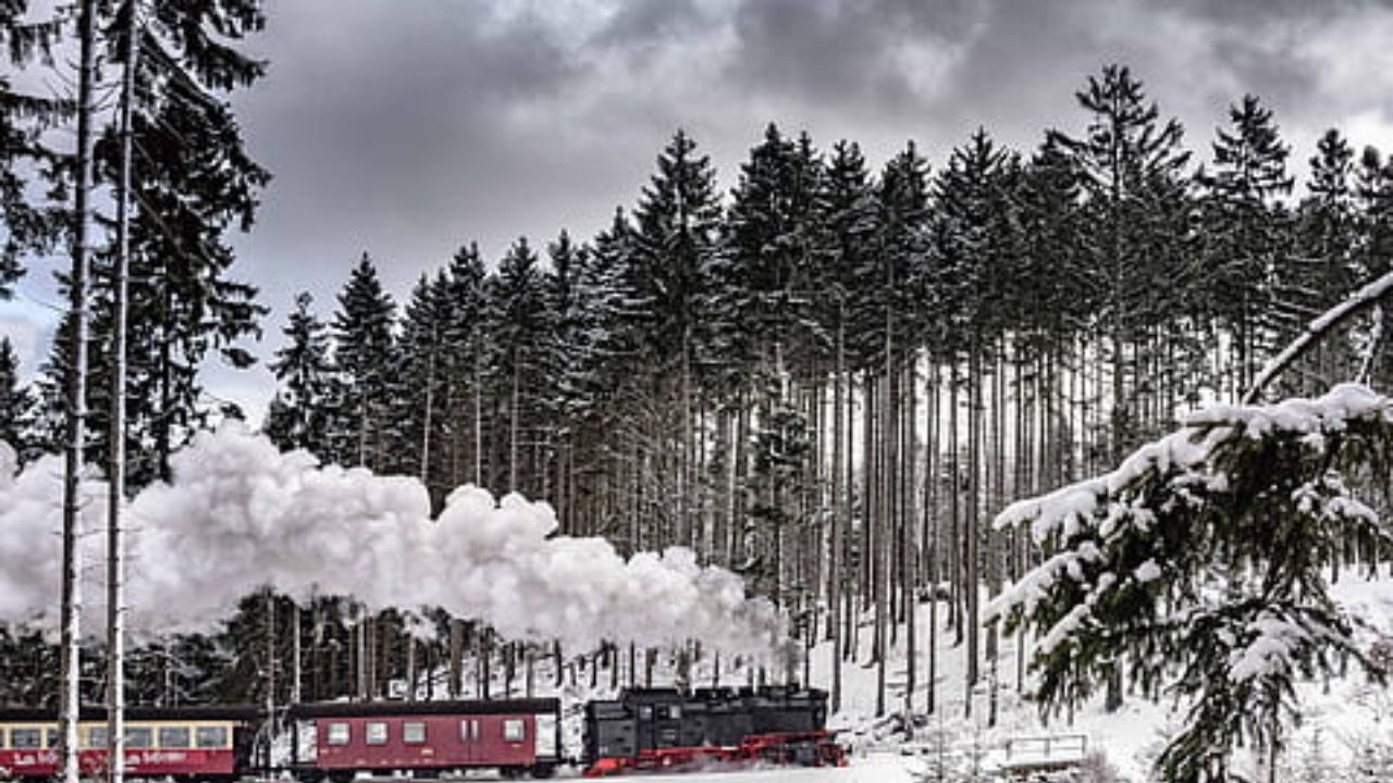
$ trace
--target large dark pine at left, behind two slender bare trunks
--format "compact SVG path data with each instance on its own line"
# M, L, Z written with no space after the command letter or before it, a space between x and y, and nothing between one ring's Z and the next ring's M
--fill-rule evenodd
M125 61L134 3L99 4L99 46ZM169 478L169 457L215 412L199 380L217 357L237 369L255 364L240 341L259 337L266 312L256 287L231 277L235 254L227 234L249 230L269 173L244 150L231 104L220 93L254 84L265 63L237 45L265 18L255 0L160 3L135 20L138 89L132 104L135 149L130 217L127 350L127 451L130 483ZM95 146L96 183L121 178L123 139L111 125ZM92 458L110 451L113 375L111 295L114 249L93 263L92 383L88 404ZM67 287L71 277L60 279ZM61 376L70 357L54 350L46 371ZM54 385L49 383L49 387ZM53 407L52 403L46 403ZM240 415L224 407L223 415Z

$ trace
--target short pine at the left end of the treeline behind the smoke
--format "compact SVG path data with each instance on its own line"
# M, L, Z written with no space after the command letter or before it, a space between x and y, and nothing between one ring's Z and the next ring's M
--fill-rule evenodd
M327 327L311 311L309 293L295 295L270 371L280 389L266 418L266 435L283 450L305 449L327 461L333 454L329 428L333 421L334 368L329 361Z

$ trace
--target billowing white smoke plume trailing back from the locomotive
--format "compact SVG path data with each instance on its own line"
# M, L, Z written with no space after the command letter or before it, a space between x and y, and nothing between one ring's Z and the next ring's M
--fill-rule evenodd
M61 465L43 460L14 476L4 460L0 451L0 468L11 465L0 475L0 619L50 614ZM88 495L100 492L89 485ZM100 503L86 514L96 529ZM599 538L547 538L557 527L549 504L474 486L430 518L415 479L319 467L235 425L199 435L174 457L173 481L137 496L128 518L130 620L148 631L206 627L270 585L371 609L440 606L506 637L575 648L699 638L759 652L783 637L769 602L747 599L737 575L698 566L687 549L625 560ZM88 536L89 559L104 555L99 539Z

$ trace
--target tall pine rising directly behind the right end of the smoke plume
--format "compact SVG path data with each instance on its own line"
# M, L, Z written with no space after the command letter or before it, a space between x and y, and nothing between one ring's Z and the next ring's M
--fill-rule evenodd
M737 522L744 527L741 570L769 585L779 605L798 594L788 539L804 527L809 509L783 475L791 467L768 458L766 451L770 444L783 451L783 444L802 440L807 418L800 380L811 382L809 368L826 355L827 346L809 339L819 333L814 287L825 252L825 176L822 156L807 134L787 139L770 124L741 166L715 269L722 361L741 380L733 392L751 407L742 417L748 444L740 436L734 443L749 450L748 518ZM807 450L807 444L793 449Z

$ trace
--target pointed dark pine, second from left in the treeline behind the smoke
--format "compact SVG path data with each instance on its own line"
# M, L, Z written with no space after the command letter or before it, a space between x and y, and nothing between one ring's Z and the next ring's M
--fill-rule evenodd
M391 386L393 327L397 305L382 288L364 252L338 294L333 319L334 364L344 383L344 432L351 437L344 464L372 470L387 464L387 401Z

